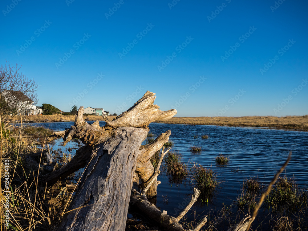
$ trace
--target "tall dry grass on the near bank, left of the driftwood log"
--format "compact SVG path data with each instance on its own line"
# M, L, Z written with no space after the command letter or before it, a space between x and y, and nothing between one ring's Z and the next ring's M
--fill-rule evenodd
M2 135L0 139L0 177L2 183L9 180L9 187L4 189L10 191L7 195L10 203L8 230L51 230L61 221L64 205L69 205L71 197L64 189L65 181L64 185L58 183L48 189L40 186L39 178L44 174L43 165L32 164L27 158L41 151L36 145L37 141L44 143L46 136L52 131L42 127L15 128L10 131L3 126L1 130L6 136ZM44 145L41 145L44 149ZM63 159L63 165L71 158L69 155L61 157L58 150L52 153L57 153ZM5 160L9 160L9 174L4 168L7 163ZM9 179L5 175L9 175ZM6 198L0 197L1 205L6 203L5 200ZM5 214L3 208L1 217ZM6 230L3 224L2 229Z

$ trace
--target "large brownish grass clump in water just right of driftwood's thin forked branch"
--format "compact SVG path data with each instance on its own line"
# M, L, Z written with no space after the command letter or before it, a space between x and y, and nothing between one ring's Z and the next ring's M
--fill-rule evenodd
M188 164L184 164L181 161L181 157L182 156L176 152L168 152L164 157L167 172L172 175L173 178L183 179L188 175Z

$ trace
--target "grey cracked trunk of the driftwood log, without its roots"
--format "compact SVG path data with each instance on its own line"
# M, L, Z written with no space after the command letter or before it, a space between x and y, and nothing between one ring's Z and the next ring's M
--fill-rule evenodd
M147 132L118 128L111 138L95 146L59 231L125 230L133 173Z

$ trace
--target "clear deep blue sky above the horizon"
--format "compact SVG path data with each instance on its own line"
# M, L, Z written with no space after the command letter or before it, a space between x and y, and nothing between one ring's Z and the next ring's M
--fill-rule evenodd
M149 90L176 116L308 114L307 1L4 0L0 9L0 64L36 79L39 106L119 115Z

